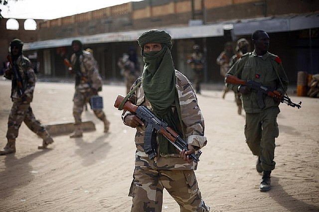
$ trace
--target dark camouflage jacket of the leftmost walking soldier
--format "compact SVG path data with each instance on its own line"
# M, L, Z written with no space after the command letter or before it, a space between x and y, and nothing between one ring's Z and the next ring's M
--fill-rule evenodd
M36 76L31 66L31 61L23 56L20 55L16 61L13 62L14 65L17 66L17 70L19 71L19 76L21 78L22 83L22 90L23 90L23 98L18 94L18 86L16 83L16 77L14 73L8 76L5 75L4 77L12 80L12 87L11 87L11 99L12 102L24 102L30 103L33 100L33 91L35 87ZM13 72L13 70L12 70Z

